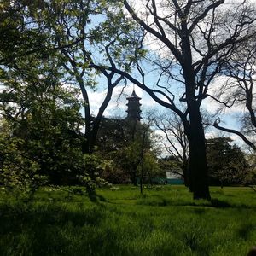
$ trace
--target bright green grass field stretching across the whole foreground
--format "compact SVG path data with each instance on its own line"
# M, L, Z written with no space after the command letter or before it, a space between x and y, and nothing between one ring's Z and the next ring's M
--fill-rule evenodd
M183 186L61 190L31 202L1 196L0 255L246 255L256 244L256 193L211 188L193 201Z

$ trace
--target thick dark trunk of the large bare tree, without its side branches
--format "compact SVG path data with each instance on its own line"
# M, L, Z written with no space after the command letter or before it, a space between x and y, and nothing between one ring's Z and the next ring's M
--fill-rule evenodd
M186 86L186 102L189 113L189 189L194 199L210 200L207 180L207 152L205 133L201 121L200 100L196 99L196 74L192 65L192 51L186 19L182 21L183 76ZM186 124L187 125L187 124Z

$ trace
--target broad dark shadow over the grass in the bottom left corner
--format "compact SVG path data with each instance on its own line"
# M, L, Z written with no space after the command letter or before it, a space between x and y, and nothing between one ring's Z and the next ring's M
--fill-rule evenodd
M102 204L2 204L0 255L111 255L121 248L108 215Z

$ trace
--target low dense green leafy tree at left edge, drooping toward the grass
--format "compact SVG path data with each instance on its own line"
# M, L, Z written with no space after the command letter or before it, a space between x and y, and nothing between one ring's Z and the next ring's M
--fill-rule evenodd
M66 95L66 91L61 94L56 88L43 90L42 86L42 97L35 97L32 90L26 91L25 87L23 84L22 90L15 93L5 91L13 94L13 101L11 106L5 102L2 109L3 125L6 123L8 129L0 134L1 181L6 188L30 192L45 183L78 183L77 176L88 176L89 172L84 170L77 131L79 105L76 99L72 99L70 93Z

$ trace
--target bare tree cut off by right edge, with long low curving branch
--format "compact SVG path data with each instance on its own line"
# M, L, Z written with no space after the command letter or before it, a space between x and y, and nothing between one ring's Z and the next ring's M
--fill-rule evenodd
M221 131L238 135L247 145L256 150L256 143L253 139L256 132L255 116L255 37L236 47L234 54L230 56L229 62L223 64L222 76L226 83L219 90L218 102L222 102L222 108L245 108L241 116L241 130L230 129L219 125L221 119L214 122L214 126ZM225 93L223 94L223 92Z

